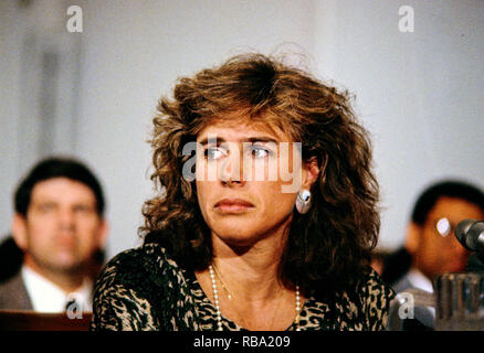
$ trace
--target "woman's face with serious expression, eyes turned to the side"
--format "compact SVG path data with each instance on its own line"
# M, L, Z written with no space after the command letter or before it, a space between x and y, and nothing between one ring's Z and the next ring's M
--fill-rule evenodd
M197 195L212 236L250 246L291 223L307 185L299 149L269 126L215 121L197 136Z

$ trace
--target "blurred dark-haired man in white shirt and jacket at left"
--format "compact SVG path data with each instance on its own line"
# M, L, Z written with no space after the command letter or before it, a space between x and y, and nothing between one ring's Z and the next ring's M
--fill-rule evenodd
M36 164L14 194L12 235L23 253L19 271L0 285L0 309L92 310L107 225L95 175L81 162Z

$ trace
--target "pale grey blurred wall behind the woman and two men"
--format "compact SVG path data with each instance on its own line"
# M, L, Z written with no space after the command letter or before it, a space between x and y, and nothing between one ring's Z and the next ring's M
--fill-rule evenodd
M82 10L82 32L67 31L71 6ZM399 26L402 7L413 32ZM302 54L296 63L355 95L381 186L380 248L403 242L429 183L484 188L482 0L4 0L0 238L20 178L55 152L102 180L108 257L138 245L157 99L179 75L245 51Z

